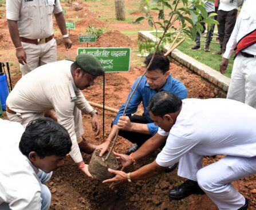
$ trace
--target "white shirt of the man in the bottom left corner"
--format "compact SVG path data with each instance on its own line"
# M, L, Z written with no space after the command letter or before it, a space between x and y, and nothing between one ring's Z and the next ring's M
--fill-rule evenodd
M18 122L0 119L0 205L12 210L41 209L38 169L18 148L24 128Z

